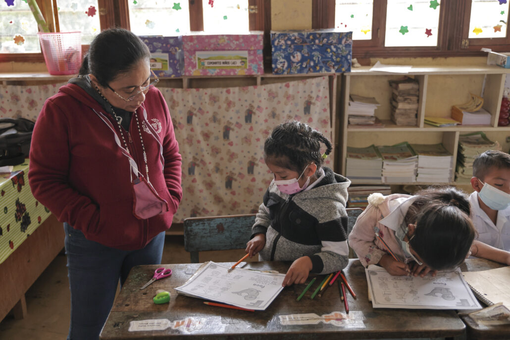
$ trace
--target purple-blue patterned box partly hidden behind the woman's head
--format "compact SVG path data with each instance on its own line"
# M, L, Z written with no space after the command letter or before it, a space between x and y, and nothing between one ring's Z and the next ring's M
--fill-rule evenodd
M180 77L184 74L182 36L141 36L140 39L149 47L150 69L158 77Z

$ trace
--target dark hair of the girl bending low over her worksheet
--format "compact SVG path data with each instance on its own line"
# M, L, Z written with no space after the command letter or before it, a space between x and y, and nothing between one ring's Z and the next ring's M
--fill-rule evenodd
M410 246L426 265L435 270L450 269L466 258L476 236L469 218L466 193L454 188L432 188L415 194L405 223L416 223Z

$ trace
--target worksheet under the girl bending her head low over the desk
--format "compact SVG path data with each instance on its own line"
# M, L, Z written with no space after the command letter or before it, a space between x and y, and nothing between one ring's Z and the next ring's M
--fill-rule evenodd
M459 268L436 276L392 276L386 269L365 269L368 296L374 308L478 309L481 308Z

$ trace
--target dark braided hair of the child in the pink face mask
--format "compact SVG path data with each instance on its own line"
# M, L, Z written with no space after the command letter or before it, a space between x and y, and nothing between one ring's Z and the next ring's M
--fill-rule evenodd
M326 146L324 154L331 153L333 147L324 135L307 124L290 121L276 126L266 139L265 158L271 159L277 166L296 172L303 171L312 162L320 169L324 162L321 143Z

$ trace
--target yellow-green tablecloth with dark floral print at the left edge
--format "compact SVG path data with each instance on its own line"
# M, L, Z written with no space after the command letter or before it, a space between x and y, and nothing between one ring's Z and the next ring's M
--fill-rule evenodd
M29 159L0 173L0 263L51 215L32 195L28 181Z

